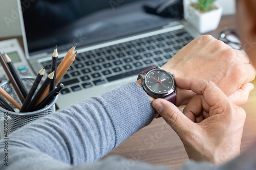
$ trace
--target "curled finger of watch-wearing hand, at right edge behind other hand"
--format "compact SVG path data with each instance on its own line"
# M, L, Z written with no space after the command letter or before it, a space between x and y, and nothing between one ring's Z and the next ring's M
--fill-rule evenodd
M233 92L228 98L236 105L243 105L247 102L249 93L253 90L254 85L252 83L243 84L240 89Z

